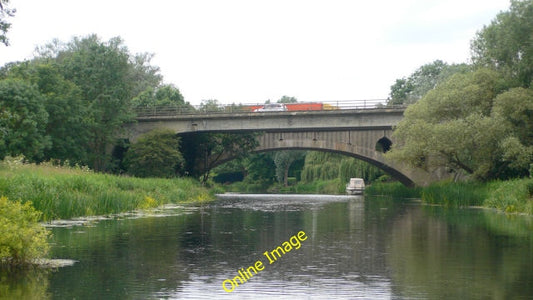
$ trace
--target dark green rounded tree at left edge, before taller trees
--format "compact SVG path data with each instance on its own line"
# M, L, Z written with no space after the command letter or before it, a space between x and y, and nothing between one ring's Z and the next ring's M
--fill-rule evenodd
M22 154L41 161L50 147L47 121L37 87L19 79L0 80L0 158Z

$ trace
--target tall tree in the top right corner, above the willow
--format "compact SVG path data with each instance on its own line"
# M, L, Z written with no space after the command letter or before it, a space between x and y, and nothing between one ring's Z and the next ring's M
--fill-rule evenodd
M494 68L521 87L533 83L533 1L511 0L509 11L501 12L477 33L471 42L472 61L477 67Z

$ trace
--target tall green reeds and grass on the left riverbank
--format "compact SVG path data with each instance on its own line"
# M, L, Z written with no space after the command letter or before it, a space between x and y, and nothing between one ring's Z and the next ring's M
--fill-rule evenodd
M32 202L42 212L43 221L212 199L191 179L120 177L80 168L7 161L0 163L0 196Z

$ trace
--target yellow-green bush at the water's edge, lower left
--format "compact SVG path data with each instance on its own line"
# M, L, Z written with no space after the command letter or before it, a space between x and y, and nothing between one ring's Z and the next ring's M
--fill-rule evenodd
M39 224L41 213L30 202L0 197L0 263L25 265L48 253L48 230Z

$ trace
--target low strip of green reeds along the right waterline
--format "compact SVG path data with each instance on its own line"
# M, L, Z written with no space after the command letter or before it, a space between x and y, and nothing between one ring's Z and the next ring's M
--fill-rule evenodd
M400 183L374 183L365 194L420 198L427 204L482 206L507 213L533 215L533 178L487 183L440 182L416 188L407 188Z

